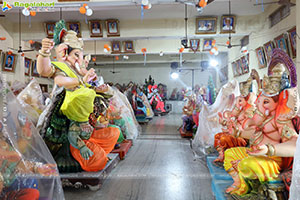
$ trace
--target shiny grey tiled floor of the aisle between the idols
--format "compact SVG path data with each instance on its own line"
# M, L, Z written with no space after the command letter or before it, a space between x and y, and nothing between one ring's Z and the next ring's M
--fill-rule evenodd
M155 117L99 191L67 189L67 200L211 200L208 169L181 139L180 115Z

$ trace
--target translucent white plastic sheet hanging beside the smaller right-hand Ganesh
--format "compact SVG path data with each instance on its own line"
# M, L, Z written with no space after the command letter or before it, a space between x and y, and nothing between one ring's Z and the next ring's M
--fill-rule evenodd
M192 141L192 148L197 157L209 154L209 149L214 144L215 134L222 131L218 112L231 110L234 106L235 98L239 95L239 83L236 80L232 80L220 89L214 104L203 104L199 114L199 126Z

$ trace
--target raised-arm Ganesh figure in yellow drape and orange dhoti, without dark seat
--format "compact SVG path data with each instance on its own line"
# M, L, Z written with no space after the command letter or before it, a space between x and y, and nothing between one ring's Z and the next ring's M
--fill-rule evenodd
M67 31L65 22L61 20L56 24L54 42L57 46L57 62L51 62L50 50L53 42L47 38L42 41L42 49L37 59L37 70L42 76L53 77L59 87L64 87L65 96L57 116L62 113L69 122L65 132L67 142L70 143L72 156L80 163L85 171L99 171L107 162L107 154L114 148L120 131L115 127L94 130L89 123L89 117L94 112L94 104L101 104L99 93L106 87L92 87L88 82L97 76L95 70L85 70L86 62L83 59L83 42L76 36L76 32ZM61 119L61 118L60 118ZM46 136L53 138L54 129L59 119L54 119L48 127ZM105 133L105 134L103 134ZM62 137L65 138L65 137ZM55 138L54 138L55 139ZM54 140L51 142L59 142Z

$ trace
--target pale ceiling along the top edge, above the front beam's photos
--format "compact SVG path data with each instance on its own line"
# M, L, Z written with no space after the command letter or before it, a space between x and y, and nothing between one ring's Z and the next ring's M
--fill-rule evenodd
M100 0L101 1L101 0ZM144 19L174 19L184 17L184 4L176 0L149 0L153 6L150 10L144 11ZM191 1L191 0L187 0ZM231 0L232 14L234 15L257 15L262 12L260 6L253 6L256 0ZM80 3L57 3L52 12L38 12L36 17L32 17L32 22L58 21L59 10L62 7L62 15L65 20L85 20L85 16L79 13ZM141 19L140 0L116 0L88 3L94 14L88 19L108 19L116 18L120 20ZM199 14L194 6L188 6L188 18L196 16L223 15L228 14L228 0L215 0L205 7ZM1 11L2 12L2 11ZM1 13L0 14L3 14ZM4 13L5 20L17 22L15 16L17 9L12 9Z

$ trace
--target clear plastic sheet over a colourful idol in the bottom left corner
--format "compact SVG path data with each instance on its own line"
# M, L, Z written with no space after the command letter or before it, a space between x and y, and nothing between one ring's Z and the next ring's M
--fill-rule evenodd
M63 200L46 144L0 74L0 199Z

